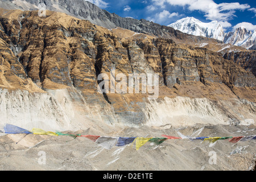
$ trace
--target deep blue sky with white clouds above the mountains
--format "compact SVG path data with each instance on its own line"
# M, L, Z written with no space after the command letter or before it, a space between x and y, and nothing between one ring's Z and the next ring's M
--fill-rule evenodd
M202 22L217 20L225 31L243 26L256 30L255 0L87 0L122 17L168 25L193 16Z

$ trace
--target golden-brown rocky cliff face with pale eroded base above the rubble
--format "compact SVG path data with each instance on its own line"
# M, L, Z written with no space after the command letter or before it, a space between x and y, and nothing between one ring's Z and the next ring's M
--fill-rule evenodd
M0 108L13 114L1 115L1 121L15 122L33 107L26 116L30 119L19 120L23 126L46 123L44 127L79 129L97 123L104 130L102 123L254 123L256 80L251 72L205 48L127 32L131 34L53 11L40 17L38 11L2 10ZM142 88L140 93L102 94L97 89L101 73L158 74L159 97L148 100L151 94ZM134 91L132 86L127 89ZM191 107L179 110L175 105ZM159 108L173 112L159 115ZM185 110L195 117L189 118Z

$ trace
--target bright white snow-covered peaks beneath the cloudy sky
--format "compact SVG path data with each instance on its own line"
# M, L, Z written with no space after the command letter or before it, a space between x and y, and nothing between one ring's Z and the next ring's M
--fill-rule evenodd
M204 23L193 17L177 20L177 22L168 26L186 34L217 39L234 46L241 46L247 49L255 49L256 47L256 31L248 31L243 27L239 27L233 32L225 33L221 24L217 21Z

